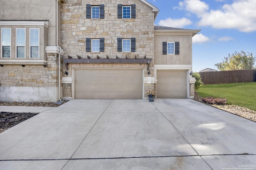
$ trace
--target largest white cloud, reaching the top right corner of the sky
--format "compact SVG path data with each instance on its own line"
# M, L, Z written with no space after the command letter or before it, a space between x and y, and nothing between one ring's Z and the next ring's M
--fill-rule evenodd
M256 0L236 0L232 4L224 4L220 10L208 11L208 7L200 0L185 0L180 2L177 8L201 18L198 26L237 29L241 32L256 31Z

